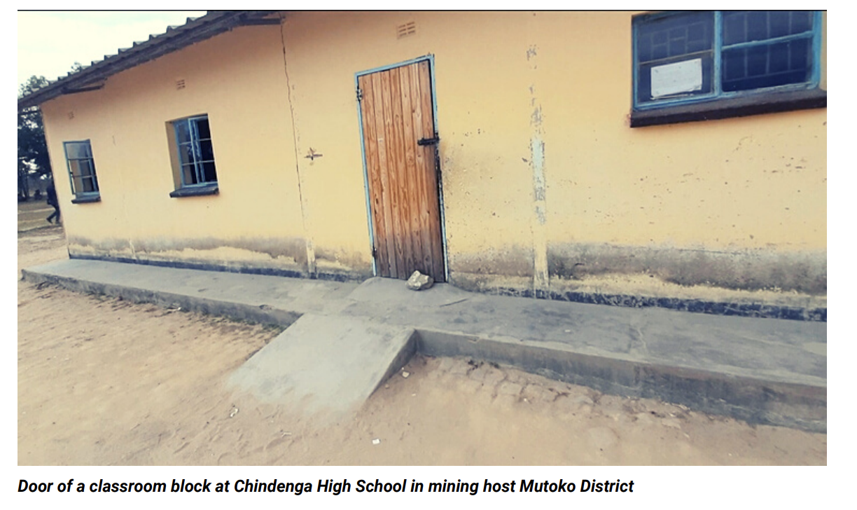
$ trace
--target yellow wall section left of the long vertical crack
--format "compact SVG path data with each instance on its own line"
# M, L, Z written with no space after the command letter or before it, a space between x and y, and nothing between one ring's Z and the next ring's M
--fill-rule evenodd
M238 28L42 108L72 255L305 272L279 27ZM199 114L219 195L171 198L167 123ZM98 203L69 203L63 141L81 139L92 143Z

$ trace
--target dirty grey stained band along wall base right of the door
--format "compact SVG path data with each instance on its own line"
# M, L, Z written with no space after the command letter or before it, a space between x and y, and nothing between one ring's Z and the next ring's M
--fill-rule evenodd
M508 256L460 255L452 258L450 283L467 291L500 296L535 297L576 303L631 308L666 308L714 315L827 321L826 308L765 302L723 302L686 297L653 297L635 292L604 293L569 289L567 285L541 290L532 281L532 258L525 249L510 249ZM826 252L781 253L773 250L716 252L594 244L548 246L550 282L583 282L588 276L648 275L678 285L707 285L739 291L797 291L811 296L827 292ZM620 285L621 279L617 282Z

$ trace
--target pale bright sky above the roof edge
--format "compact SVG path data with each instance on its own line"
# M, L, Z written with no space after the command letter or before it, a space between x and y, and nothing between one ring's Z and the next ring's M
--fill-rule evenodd
M33 75L54 81L75 62L89 65L201 15L205 11L19 11L18 86Z

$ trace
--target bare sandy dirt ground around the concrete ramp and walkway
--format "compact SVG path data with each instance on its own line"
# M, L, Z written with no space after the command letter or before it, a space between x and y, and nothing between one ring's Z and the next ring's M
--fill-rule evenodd
M59 227L19 234L19 269L65 256ZM19 282L19 465L827 462L824 434L467 359L416 357L353 419L315 423L225 390L280 330Z

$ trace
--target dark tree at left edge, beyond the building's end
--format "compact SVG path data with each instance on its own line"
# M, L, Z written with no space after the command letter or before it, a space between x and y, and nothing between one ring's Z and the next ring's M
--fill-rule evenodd
M33 93L47 84L45 76L31 76L21 85L18 97ZM51 175L45 125L42 123L42 112L38 106L18 111L18 201L27 201L30 198L30 175Z

